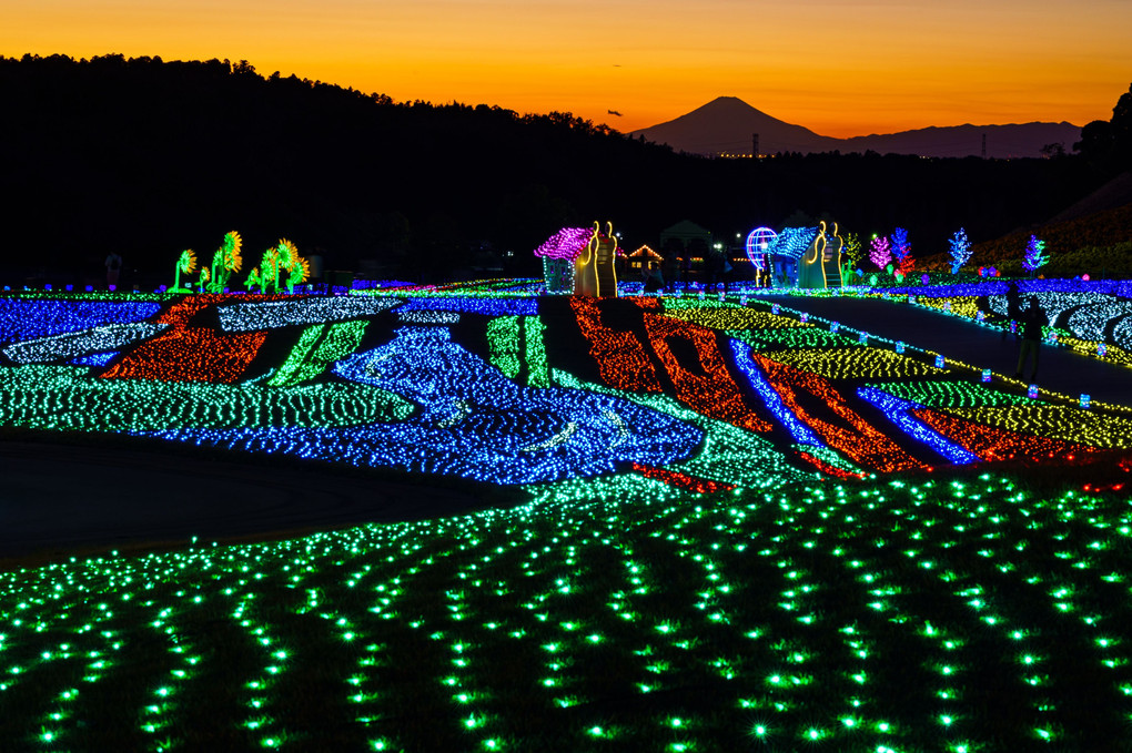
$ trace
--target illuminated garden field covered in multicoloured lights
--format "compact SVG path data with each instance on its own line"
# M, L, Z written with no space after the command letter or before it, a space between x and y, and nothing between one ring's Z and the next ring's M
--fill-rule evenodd
M521 502L11 565L0 748L1127 750L1132 409L752 285L555 294L578 250L550 293L314 294L284 243L255 293L224 292L237 236L172 291L3 294L0 426ZM1132 367L1126 283L1022 287Z

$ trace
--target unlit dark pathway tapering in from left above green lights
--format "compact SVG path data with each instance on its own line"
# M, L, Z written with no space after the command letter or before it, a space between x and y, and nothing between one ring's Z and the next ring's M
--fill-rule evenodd
M460 488L136 451L0 441L0 564L76 549L185 544L371 521L415 520L486 505ZM491 504L506 504L507 496ZM524 495L514 494L512 503ZM298 534L293 534L298 535Z

